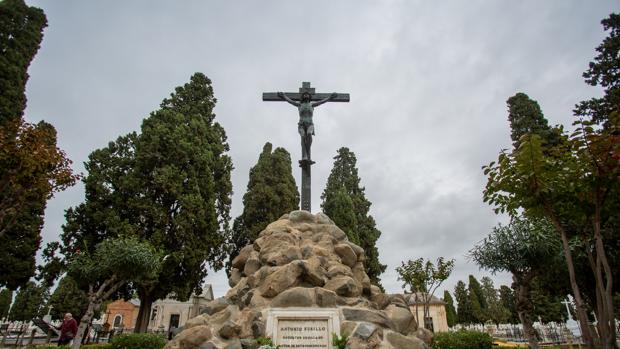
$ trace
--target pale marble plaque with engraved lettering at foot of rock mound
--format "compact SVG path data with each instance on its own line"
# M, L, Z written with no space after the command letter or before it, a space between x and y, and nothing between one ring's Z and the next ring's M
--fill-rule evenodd
M281 349L332 349L340 335L337 309L272 308L267 310L267 335Z

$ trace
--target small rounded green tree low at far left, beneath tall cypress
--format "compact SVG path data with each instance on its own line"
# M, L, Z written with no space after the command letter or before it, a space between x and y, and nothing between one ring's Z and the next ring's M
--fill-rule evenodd
M19 288L15 295L15 301L9 312L9 320L30 321L42 317L45 314L44 305L47 296L47 290L44 287L28 281L26 285Z

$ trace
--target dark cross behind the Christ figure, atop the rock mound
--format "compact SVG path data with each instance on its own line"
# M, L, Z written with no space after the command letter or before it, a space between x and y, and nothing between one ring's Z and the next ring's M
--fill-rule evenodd
M310 87L310 83L309 82L302 82L301 83L301 87L299 88L299 92L284 92L284 93L278 93L278 92L264 92L263 93L263 101L266 102L289 102L286 100L286 98L284 98L284 95L286 95L286 97L288 99L290 99L292 102L296 102L296 103L301 103L302 100L302 96L308 93L310 94L310 101L311 102L318 102L318 101L324 101L324 102L348 102L349 101L349 94L348 93L337 93L337 94L333 94L333 93L316 93L313 87ZM289 102L290 103L290 102ZM301 122L301 114L302 114L302 108L300 107L300 122ZM310 120L312 120L312 111L310 111ZM310 123L312 123L312 121L310 121ZM300 131L301 132L301 131ZM308 151L306 151L305 153L307 154L307 158L303 158L302 156L302 160L299 161L299 167L301 167L301 209L302 210L306 210L308 212L311 212L312 210L312 204L311 204L311 171L310 171L310 166L312 166L314 164L314 161L312 161L312 159L310 159L310 144L312 144L312 136L308 135L307 137L310 138L309 140L309 144L308 144ZM304 154L304 139L302 136L302 154Z

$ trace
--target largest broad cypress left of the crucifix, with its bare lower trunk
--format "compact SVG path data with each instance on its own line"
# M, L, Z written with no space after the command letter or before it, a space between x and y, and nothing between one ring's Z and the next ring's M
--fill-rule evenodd
M205 264L225 262L233 165L226 132L215 121L211 80L195 73L142 122L133 171L141 195L140 235L170 256L154 282L138 284L136 332L145 332L152 302L201 292Z

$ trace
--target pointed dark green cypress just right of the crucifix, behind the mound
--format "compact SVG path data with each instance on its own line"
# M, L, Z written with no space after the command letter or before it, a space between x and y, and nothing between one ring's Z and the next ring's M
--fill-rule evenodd
M379 251L376 246L381 231L376 228L374 218L368 213L371 203L366 199L365 188L360 186L356 163L357 159L352 151L346 147L338 149L325 190L321 194L323 200L321 208L336 225L339 227L342 225L345 232L348 230L351 241L359 239L360 246L366 254L366 274L372 283L379 285L379 275L386 268L386 265L379 262ZM352 219L348 199L343 196L343 191L351 199L355 219Z

